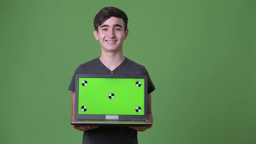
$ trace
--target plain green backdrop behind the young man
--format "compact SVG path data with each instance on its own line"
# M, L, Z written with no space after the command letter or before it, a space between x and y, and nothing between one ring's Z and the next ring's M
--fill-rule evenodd
M140 144L256 144L255 0L0 0L1 144L81 144L67 88L100 56L106 6L127 13L124 54L156 86Z

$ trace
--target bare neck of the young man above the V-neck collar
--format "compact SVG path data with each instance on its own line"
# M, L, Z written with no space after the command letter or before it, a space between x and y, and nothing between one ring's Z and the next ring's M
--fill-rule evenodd
M99 57L101 62L111 71L113 71L118 65L120 65L125 57L123 56L123 52L103 52Z

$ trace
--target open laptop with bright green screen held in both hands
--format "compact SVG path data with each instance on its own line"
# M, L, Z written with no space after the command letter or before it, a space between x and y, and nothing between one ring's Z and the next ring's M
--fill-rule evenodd
M147 75L75 76L73 125L146 126Z

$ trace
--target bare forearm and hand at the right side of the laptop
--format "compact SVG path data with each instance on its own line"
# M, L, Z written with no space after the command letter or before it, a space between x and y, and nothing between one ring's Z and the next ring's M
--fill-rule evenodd
M152 110L151 110L151 93L148 94L148 120L153 123L153 115L152 115ZM151 124L149 126L145 126L145 127L129 127L129 128L133 128L137 131L146 131L148 128L151 128L152 126L153 126L153 124Z

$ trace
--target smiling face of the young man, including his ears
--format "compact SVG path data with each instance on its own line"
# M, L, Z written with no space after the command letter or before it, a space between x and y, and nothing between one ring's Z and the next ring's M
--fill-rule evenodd
M124 21L121 18L110 17L101 26L98 32L94 30L97 39L104 51L118 51L122 49L123 42L127 38L128 30L125 32Z

